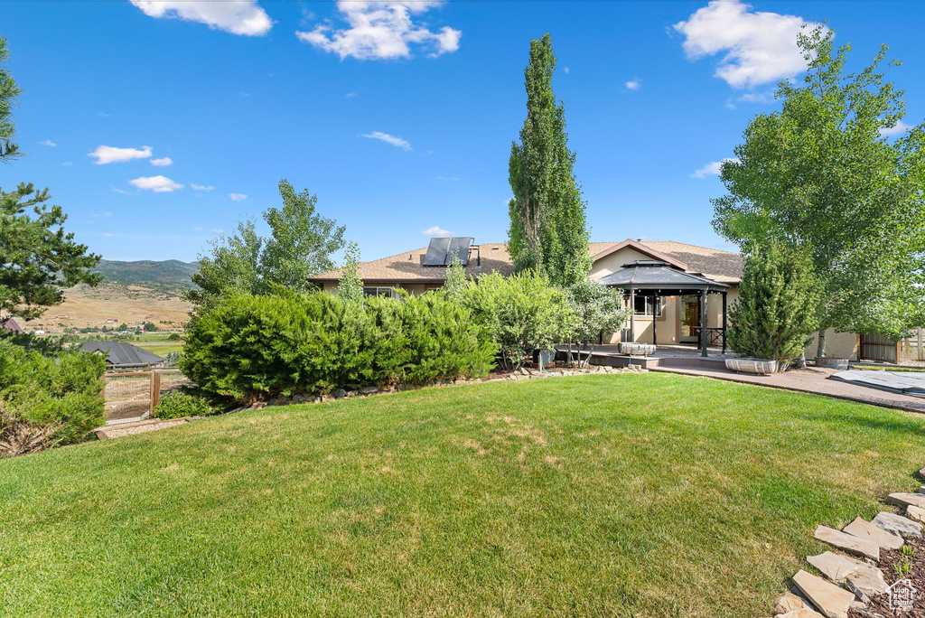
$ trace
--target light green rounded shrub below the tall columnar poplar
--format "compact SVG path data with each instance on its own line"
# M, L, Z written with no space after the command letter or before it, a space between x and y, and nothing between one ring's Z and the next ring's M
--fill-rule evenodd
M522 365L530 352L562 343L573 332L569 298L533 271L507 278L492 273L454 295L487 329L507 366Z

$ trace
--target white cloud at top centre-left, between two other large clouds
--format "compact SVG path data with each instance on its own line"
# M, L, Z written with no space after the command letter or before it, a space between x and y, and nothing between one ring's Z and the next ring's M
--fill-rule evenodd
M329 23L313 31L296 31L302 43L359 60L384 60L412 56L411 45L422 45L430 56L455 52L462 32L444 26L431 31L415 23L413 16L443 4L438 0L339 0L338 10L348 28L335 29Z

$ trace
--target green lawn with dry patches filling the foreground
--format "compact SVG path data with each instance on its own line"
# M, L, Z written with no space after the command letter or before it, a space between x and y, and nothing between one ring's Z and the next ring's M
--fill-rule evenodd
M770 615L923 429L665 374L210 418L0 462L0 612Z

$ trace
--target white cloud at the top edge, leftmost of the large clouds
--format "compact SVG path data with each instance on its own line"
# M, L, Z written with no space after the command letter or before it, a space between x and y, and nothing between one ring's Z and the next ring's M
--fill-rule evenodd
M130 0L142 12L153 18L174 18L198 21L214 30L232 34L258 36L273 27L273 20L257 5L256 0Z

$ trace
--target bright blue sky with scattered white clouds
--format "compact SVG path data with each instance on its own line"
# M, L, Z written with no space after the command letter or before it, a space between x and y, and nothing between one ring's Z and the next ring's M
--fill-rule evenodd
M820 20L856 68L889 44L907 122L925 117L919 3L8 2L28 155L0 185L48 186L108 259L192 260L277 205L280 178L363 259L427 230L504 241L529 41L549 31L592 240L728 248L711 167Z

